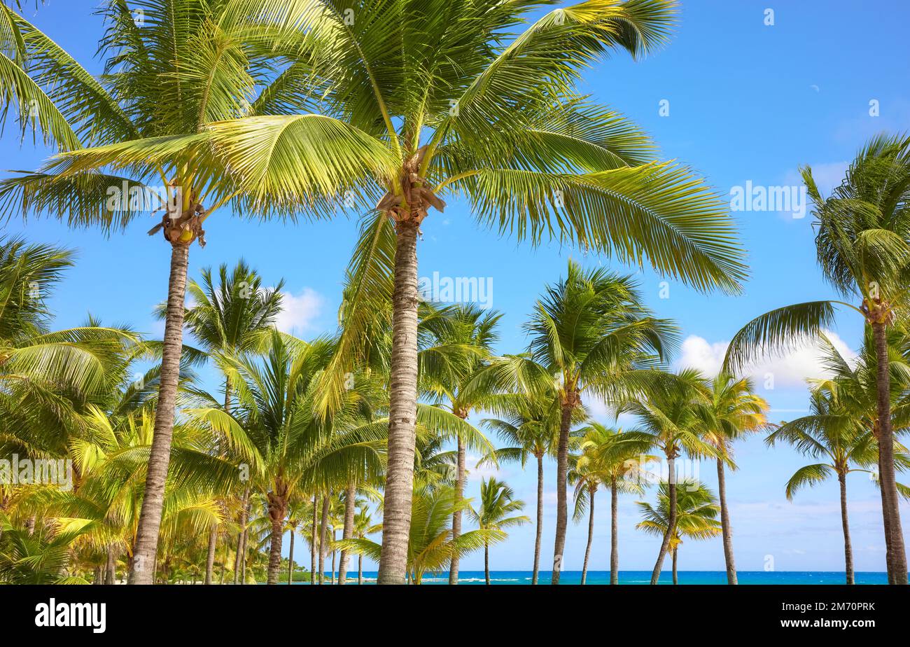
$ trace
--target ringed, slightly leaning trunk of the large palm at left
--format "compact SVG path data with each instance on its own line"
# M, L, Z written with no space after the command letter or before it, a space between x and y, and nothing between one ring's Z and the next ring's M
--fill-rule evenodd
M155 558L161 510L164 505L167 466L170 463L171 437L174 434L174 413L177 404L177 380L180 376L180 356L183 352L184 298L187 292L189 246L171 246L170 278L167 288L167 317L161 356L158 402L155 409L155 434L148 454L146 489L139 512L136 546L133 549L133 568L130 584L151 584L155 579Z

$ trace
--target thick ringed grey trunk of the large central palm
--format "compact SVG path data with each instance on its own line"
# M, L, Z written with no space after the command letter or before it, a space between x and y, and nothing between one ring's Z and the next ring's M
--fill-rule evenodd
M378 584L403 584L408 568L410 505L414 487L414 425L417 418L417 230L397 225L392 295L392 356L389 387L389 467Z

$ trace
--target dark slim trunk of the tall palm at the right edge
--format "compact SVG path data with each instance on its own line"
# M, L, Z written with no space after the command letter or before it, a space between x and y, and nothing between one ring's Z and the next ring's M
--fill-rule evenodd
M878 359L876 389L878 391L878 453L881 457L879 485L882 488L882 516L885 520L885 546L888 583L907 583L907 558L901 511L898 507L895 480L895 434L891 427L891 384L888 375L888 339L885 324L872 324L875 332L875 355Z

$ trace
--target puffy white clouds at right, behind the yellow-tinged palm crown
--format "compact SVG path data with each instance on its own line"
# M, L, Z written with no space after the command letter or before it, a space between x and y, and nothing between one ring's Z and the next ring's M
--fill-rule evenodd
M854 351L834 332L826 331L825 334L831 339L834 348L848 361L856 357ZM680 368L699 369L708 376L716 375L723 364L728 344L728 341L712 343L698 335L690 335L682 342L682 356L678 365ZM774 385L779 387L801 387L806 379L825 377L822 352L814 345L807 345L781 357L764 359L750 366L749 371L758 382L763 382L766 375L772 374Z

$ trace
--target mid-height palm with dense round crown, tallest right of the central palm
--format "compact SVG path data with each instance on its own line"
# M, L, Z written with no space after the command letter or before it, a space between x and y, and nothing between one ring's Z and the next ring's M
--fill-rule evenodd
M557 516L552 583L560 581L568 507L566 480L573 411L582 397L616 400L642 389L650 367L675 341L675 329L653 318L630 277L570 260L566 278L547 293L526 325L531 356L557 381L561 420L556 448Z

